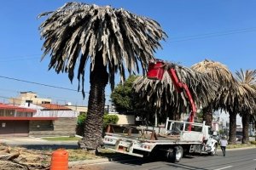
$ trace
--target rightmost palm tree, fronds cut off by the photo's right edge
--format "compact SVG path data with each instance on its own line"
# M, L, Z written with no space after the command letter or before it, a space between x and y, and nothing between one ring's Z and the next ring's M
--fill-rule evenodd
M242 107L241 122L242 122L242 143L247 144L249 142L249 123L251 114L255 113L255 96L256 89L253 86L256 85L256 70L236 71L236 80L239 82L241 88L244 91L242 98L246 98L247 103Z

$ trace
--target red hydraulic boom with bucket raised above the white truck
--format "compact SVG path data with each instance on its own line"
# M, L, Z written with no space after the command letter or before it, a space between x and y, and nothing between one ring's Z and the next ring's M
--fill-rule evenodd
M152 62L148 65L148 74L147 77L149 79L157 79L161 80L165 70L167 69L170 77L172 78L172 82L174 87L176 88L178 93L184 92L189 100L191 112L189 114L189 122L194 122L196 107L195 102L192 98L192 95L189 92L189 88L187 84L181 82L178 77L175 69L167 65L162 60L156 60L156 62ZM191 130L191 126L189 126L189 131Z

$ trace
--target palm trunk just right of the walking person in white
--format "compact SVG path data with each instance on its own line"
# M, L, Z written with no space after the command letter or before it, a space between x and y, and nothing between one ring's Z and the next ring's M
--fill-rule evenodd
M230 144L236 144L236 113L229 111L230 113Z

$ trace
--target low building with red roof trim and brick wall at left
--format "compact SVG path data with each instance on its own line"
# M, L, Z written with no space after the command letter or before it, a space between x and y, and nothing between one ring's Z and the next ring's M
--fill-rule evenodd
M75 135L78 112L53 104L0 105L0 136Z

